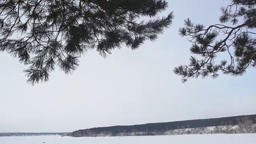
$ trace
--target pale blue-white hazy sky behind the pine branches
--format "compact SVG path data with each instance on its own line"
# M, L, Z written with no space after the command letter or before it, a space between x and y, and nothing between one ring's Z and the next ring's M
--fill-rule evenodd
M138 50L123 47L102 58L96 50L80 59L71 76L52 72L31 86L26 67L0 53L0 132L72 132L113 125L170 122L256 114L255 69L240 77L190 79L182 84L172 70L188 64L190 45L178 35L184 19L218 23L229 0L169 0L172 26ZM225 55L223 58L226 58Z

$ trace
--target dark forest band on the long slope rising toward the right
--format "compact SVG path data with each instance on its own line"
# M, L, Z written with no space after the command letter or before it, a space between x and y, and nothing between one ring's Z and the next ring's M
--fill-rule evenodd
M245 119L249 119L253 124L256 124L256 114L246 116L232 116L224 118L209 118L209 119L198 119L198 120L184 120L176 122L161 122L161 123L148 123L138 124L132 126L109 126L90 128L85 130L74 131L72 136L98 136L97 134L108 134L109 136L117 136L120 133L131 133L131 132L144 132L143 135L156 135L163 134L167 130L175 130L181 128L199 128L208 126L224 126L224 125L238 125Z

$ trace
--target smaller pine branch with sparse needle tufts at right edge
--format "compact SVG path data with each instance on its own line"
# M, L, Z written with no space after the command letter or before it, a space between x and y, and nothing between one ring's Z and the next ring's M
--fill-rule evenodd
M254 30L256 28L255 2L240 1L233 2L226 8L222 8L220 22L233 22L234 27L224 24L214 24L204 28L202 24L194 24L190 19L185 20L185 26L180 28L181 36L190 36L192 42L190 51L200 55L202 60L194 57L190 58L190 64L181 65L174 68L174 73L182 76L185 83L188 78L206 78L211 76L217 78L218 71L232 76L241 76L248 68L256 65L256 40ZM247 8L246 8L247 7ZM234 8L232 12L232 8ZM244 17L244 22L238 24L238 18ZM219 34L226 35L223 40L218 38ZM234 54L230 52L234 49ZM220 64L215 64L214 59L220 52L228 52L230 63L222 60Z

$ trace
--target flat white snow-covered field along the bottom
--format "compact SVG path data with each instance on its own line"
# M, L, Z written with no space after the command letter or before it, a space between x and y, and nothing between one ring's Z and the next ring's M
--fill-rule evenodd
M256 134L200 134L94 138L13 136L0 137L0 144L256 144Z

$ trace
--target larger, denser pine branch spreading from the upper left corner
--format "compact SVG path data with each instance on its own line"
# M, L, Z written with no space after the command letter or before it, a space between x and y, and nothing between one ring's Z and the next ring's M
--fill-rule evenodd
M29 65L28 83L46 82L56 66L72 74L88 50L106 57L156 40L172 24L172 12L156 18L167 7L165 0L4 0L0 50ZM142 16L150 20L137 22Z

